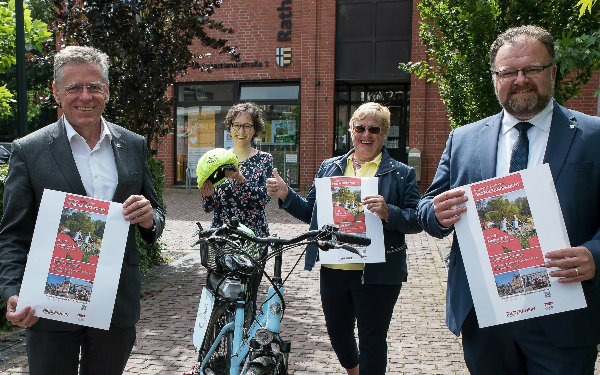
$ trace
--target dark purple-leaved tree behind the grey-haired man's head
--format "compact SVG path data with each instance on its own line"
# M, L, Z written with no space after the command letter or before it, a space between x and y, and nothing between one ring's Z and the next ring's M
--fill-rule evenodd
M207 34L230 34L232 29L211 17L218 0L53 0L58 8L56 30L62 45L96 47L110 57L110 100L104 110L109 121L152 142L160 143L173 129L175 98L167 90L188 69L210 71L200 62L206 54L192 52L195 42L239 55L227 40Z

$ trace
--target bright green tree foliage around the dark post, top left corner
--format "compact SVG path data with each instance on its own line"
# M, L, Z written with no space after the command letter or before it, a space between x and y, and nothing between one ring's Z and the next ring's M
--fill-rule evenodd
M25 20L25 50L32 58L32 52L41 52L42 44L50 40L52 34L47 30L46 23L32 19L31 9L23 4L23 19ZM14 103L13 92L7 87L8 81L14 81L16 87L16 72L13 65L16 58L16 14L14 0L0 2L0 116L8 116L13 112L11 103ZM13 67L12 71L10 68ZM6 74L11 73L11 74ZM11 85L9 85L11 86ZM13 105L14 106L14 105Z

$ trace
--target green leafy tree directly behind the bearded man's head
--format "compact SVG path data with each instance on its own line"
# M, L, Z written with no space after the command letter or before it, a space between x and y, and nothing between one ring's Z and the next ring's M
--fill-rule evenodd
M452 127L500 112L489 51L497 35L508 28L536 24L554 36L559 67L554 98L560 104L576 95L600 68L600 16L578 19L571 1L422 0L418 9L419 36L431 64L416 61L399 68L437 82Z

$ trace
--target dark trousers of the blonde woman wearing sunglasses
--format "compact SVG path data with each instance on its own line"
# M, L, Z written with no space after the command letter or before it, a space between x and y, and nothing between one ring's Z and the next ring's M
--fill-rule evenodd
M321 266L321 303L331 346L344 368L383 375L388 365L389 323L401 284L361 284L362 271ZM359 346L354 328L358 326Z

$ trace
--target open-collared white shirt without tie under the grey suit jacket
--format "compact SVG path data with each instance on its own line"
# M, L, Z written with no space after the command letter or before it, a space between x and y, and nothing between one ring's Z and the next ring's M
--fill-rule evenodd
M89 148L88 143L69 124L67 118L64 118L64 121L71 152L86 194L88 197L111 200L119 182L119 175L116 170L115 153L110 144L112 134L106 121L101 118L102 132L94 149Z

